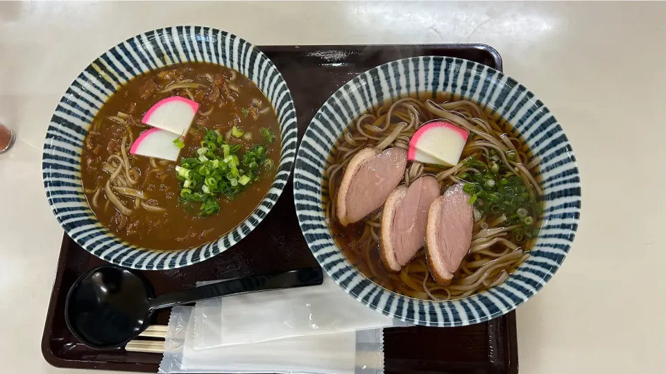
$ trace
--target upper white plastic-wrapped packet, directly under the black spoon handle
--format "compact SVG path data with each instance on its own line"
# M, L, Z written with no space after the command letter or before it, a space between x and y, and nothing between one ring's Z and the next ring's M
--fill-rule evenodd
M208 283L212 282L197 285ZM286 337L409 326L370 310L328 277L322 285L313 287L200 301L194 308L194 323L196 350Z

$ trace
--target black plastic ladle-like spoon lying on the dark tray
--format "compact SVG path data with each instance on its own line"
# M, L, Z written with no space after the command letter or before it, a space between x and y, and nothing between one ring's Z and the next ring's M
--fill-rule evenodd
M133 271L103 266L80 276L69 289L65 321L90 348L124 346L148 328L155 310L221 296L321 285L321 268L248 276L153 297L150 283Z

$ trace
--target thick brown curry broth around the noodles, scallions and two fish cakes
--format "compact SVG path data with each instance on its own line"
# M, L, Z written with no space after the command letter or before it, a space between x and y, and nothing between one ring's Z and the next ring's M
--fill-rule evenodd
M102 170L104 163L110 156L107 149L108 143L112 139L122 139L124 134L125 126L109 120L109 116L116 116L118 112L130 113L130 107L135 105L135 109L131 111L131 116L135 121L132 121L134 125L130 127L133 131L133 137L136 139L140 132L148 130L149 127L141 124L141 118L157 101L176 94L187 97L185 91L182 89L164 94L157 93L159 89L163 89L169 83L160 80L157 74L161 71L172 69L178 69L177 74L182 74L182 78L177 80L192 79L194 82L206 84L209 87L211 83L205 78L205 73L210 73L216 77L221 77L221 75L217 74L223 74L225 78L230 78L233 74L232 70L214 64L176 64L140 75L123 87L120 87L117 93L107 100L94 118L93 123L101 121L98 128L101 134L91 139L90 143L92 143L93 147L91 149L87 149L86 146L83 147L81 154L83 169L81 177L85 190L94 190L98 183L99 186L104 186L109 178L108 172ZM185 249L216 240L221 235L234 229L235 226L245 220L254 211L275 179L275 172L280 158L280 128L277 115L272 107L270 107L267 113L259 115L256 121L252 116L245 116L241 108L250 107L253 98L262 100L264 106L269 107L270 103L253 82L240 73L235 72L235 75L236 78L233 83L237 85L240 93L235 99L235 103L226 103L222 107L219 107L220 100L218 100L212 114L205 116L207 120L203 120L202 118L205 117L197 114L191 126L191 129L196 130L196 133L194 135L187 134L185 148L180 151L180 157L192 157L196 155L196 149L200 147L200 141L205 134L205 131L201 128L202 126L207 129L218 129L222 134L225 134L234 125L235 121L237 126L241 127L245 132L251 132L253 135L252 141L241 141L233 138L230 140L230 144L232 145L236 143L244 145L243 149L239 151L240 159L242 159L242 154L244 154L244 150L247 148L250 148L252 145L266 143L259 132L262 127L268 127L275 135L273 143L268 144L268 158L273 160L273 170L270 172L262 170L259 181L254 184L248 184L233 199L220 197L219 213L209 217L199 217L198 203L194 203L189 208L178 203L180 184L176 177L176 163L169 163L162 173L147 172L148 169L152 168L148 157L128 154L131 166L139 170L140 177L137 189L144 190L149 201L154 202L157 206L166 208L167 212L151 213L143 208L135 209L133 198L117 194L128 208L136 211L133 216L129 217L128 224L138 222L137 226L131 230L127 229L127 225L122 230L119 230L120 213L114 208L113 204L108 204L108 209L105 211L104 207L107 199L101 193L98 198L98 206L95 208L91 204L91 208L104 226L131 244L150 249ZM158 88L155 94L147 99L142 99L141 96L147 87L146 82L149 80L157 82ZM196 90L190 89L190 91L194 93ZM203 89L203 91L205 92L206 89ZM200 103L199 112L206 112L210 108L210 103L205 101L205 95L203 99L200 96L196 97L196 101ZM89 134L88 136L90 137L91 135ZM101 147L97 147L97 145L101 145ZM88 159L92 159L92 161L90 161L90 166L86 167ZM157 166L160 166L159 163ZM160 180L160 178L163 178L163 180ZM150 188L151 184L154 186L153 190ZM94 193L86 194L89 202L92 201L93 195Z

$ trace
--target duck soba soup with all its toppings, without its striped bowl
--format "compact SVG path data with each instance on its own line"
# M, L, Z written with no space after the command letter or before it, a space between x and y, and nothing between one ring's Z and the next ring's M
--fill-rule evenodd
M538 163L509 123L476 103L401 98L356 118L334 145L325 215L370 280L418 299L459 299L529 258L543 213Z

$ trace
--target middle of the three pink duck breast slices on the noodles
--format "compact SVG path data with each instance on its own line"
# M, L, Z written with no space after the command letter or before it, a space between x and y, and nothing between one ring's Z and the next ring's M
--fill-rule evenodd
M388 196L382 211L382 261L400 271L425 244L430 204L439 196L437 179L426 175L409 188L399 186Z

